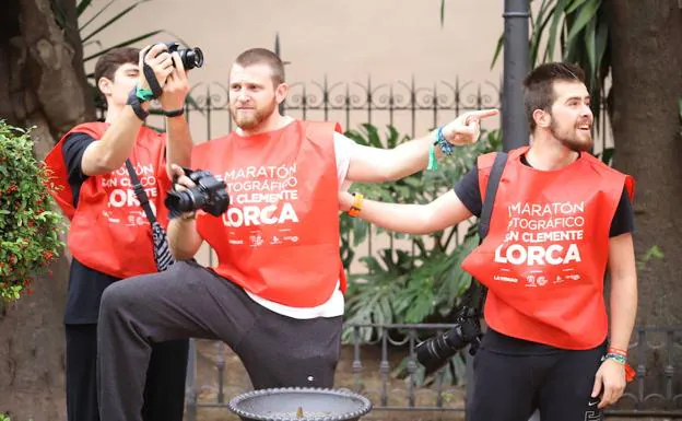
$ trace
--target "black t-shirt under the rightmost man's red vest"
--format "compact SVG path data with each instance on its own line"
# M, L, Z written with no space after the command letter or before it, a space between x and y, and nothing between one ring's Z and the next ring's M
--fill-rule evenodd
M521 163L530 166L525 155L521 156ZM465 207L469 209L469 212L477 218L481 217L483 202L481 200L481 187L479 186L479 171L477 165L465 174L455 185L455 194ZM632 203L630 202L627 191L623 188L623 194L621 195L613 220L611 221L609 236L614 237L621 234L632 233L635 229L634 221ZM506 354L540 355L562 351L548 344L511 338L490 328L483 338L482 346L490 351Z

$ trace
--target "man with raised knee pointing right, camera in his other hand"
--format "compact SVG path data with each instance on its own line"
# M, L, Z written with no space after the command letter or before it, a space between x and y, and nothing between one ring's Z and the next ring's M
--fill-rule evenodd
M220 339L239 355L254 387L331 387L340 353L345 279L339 256L338 191L344 182L384 182L424 169L433 133L393 150L356 145L331 124L279 113L287 93L282 61L256 48L230 73L237 130L195 147L192 168L224 180L232 204L221 214L210 176L175 167L177 184L204 200L199 211L172 207L168 238L176 258L190 259L207 241L214 269L191 260L108 289L99 317L104 421L139 421L150 343L188 337ZM470 113L442 131L471 143ZM437 152L438 154L440 152ZM179 187L178 187L179 188ZM183 196L183 195L180 195ZM217 206L216 206L217 204ZM186 210L187 208L185 208ZM213 215L213 213L217 215Z

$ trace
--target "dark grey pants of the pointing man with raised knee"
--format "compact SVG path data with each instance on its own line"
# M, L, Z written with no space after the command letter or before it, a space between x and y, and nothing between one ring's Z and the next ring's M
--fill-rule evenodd
M255 388L331 387L341 317L294 319L191 261L107 288L99 311L103 421L140 421L151 343L219 339L242 359Z

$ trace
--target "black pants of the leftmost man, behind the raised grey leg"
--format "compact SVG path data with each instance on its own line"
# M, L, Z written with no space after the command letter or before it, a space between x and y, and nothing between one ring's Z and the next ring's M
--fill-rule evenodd
M67 418L99 421L97 408L97 325L66 325ZM144 388L145 421L181 421L188 340L153 346Z

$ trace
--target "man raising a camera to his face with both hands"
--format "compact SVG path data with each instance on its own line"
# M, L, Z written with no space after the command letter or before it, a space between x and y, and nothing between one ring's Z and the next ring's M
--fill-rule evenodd
M52 195L71 220L68 244L73 259L64 315L69 421L99 420L96 330L103 291L122 278L156 271L150 223L125 162L130 160L164 225L163 200L170 187L166 159L189 163L191 139L181 116L189 85L179 55L166 50L160 44L103 55L95 80L107 102L106 120L74 127L45 160L52 172ZM168 145L166 136L142 126L153 96L151 77L163 86L160 102L173 139ZM187 351L187 340L152 346L144 420L183 419Z

